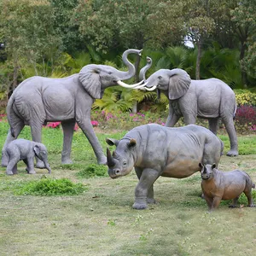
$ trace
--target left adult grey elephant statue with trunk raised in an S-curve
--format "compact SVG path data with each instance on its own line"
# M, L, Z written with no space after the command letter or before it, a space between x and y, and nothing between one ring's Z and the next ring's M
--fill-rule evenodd
M63 79L32 77L23 81L9 98L7 117L10 125L9 133L2 150L2 166L7 166L7 145L17 138L24 125L30 125L32 140L41 143L42 126L47 122L61 121L63 129L62 164L70 164L71 146L74 125L77 122L88 138L98 164L106 164L93 127L90 123L91 105L100 99L107 87L117 85L126 88L137 88L138 84L125 84L122 80L131 79L135 74L134 65L128 61L129 54L141 55L142 50L127 49L123 53L123 61L128 71L119 71L106 65L90 64L83 67L80 73ZM37 159L37 166L44 163Z

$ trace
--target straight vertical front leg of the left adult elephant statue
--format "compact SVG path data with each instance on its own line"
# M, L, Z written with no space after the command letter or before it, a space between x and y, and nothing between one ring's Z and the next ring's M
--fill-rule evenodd
M61 153L61 163L63 165L72 164L72 160L70 159L70 154L71 154L73 130L74 130L75 124L76 124L75 120L61 122L62 129L63 129L63 149Z

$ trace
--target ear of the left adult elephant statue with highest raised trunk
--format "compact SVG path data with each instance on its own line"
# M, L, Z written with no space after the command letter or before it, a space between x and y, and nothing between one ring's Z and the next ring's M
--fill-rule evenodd
M87 65L79 72L79 80L83 84L84 89L94 99L102 98L102 86L100 80L100 70L96 65Z

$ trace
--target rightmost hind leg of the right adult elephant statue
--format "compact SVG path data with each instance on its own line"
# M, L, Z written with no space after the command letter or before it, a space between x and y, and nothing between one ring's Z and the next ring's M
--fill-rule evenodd
M237 145L237 137L236 137L236 129L234 125L233 118L223 119L226 131L230 137L230 151L227 153L228 156L236 156L238 155L238 145Z

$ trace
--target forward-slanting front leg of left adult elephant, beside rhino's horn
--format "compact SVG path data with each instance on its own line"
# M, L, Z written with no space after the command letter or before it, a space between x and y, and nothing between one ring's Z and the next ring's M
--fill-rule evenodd
M99 165L106 165L107 164L107 157L103 153L103 149L101 144L96 137L96 134L93 130L93 127L90 123L90 119L84 119L81 121L77 121L79 127L84 132L84 135L90 142L91 147L93 148L94 153L96 154L97 162Z

